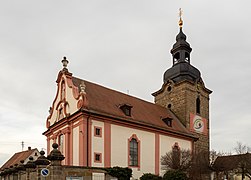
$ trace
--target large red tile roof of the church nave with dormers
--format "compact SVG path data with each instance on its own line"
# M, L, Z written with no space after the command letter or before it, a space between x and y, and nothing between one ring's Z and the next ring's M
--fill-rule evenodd
M76 77L72 80L78 88L84 82L88 110L194 137L167 108ZM120 109L124 104L132 106L131 116L126 116ZM163 122L164 118L172 118L172 127Z

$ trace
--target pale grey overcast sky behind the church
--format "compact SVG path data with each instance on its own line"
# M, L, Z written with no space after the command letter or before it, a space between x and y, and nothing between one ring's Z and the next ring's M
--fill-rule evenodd
M183 31L210 97L211 149L251 146L251 1L8 0L0 3L0 165L42 133L67 56L74 76L153 102Z

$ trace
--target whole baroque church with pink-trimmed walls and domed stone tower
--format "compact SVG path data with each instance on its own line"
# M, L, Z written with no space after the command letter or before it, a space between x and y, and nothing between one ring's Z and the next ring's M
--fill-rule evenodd
M64 57L43 133L47 151L56 142L64 165L130 167L134 178L163 174L161 157L173 148L209 152L212 91L191 65L191 51L180 25L154 103L73 76Z

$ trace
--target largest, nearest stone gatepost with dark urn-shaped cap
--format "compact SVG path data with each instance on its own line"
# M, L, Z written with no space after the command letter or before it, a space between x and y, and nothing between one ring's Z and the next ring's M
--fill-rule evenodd
M50 177L51 179L63 180L63 172L62 172L62 165L61 161L64 160L64 156L58 150L58 144L52 144L53 150L47 156L47 159L51 161L50 166Z

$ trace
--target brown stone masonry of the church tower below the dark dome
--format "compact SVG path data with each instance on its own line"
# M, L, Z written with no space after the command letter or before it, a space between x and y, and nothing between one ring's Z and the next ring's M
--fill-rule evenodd
M207 134L197 133L199 140L195 142L196 151L209 151L209 94L203 82L194 83L181 81L179 83L168 82L162 89L154 93L155 103L170 109L177 115L183 125L190 130L190 113L196 113L196 99L200 98L199 116L207 120Z

